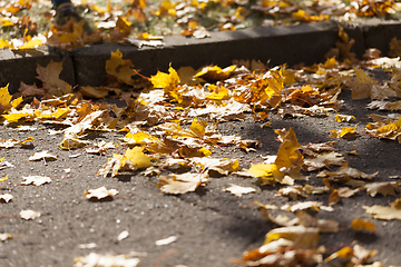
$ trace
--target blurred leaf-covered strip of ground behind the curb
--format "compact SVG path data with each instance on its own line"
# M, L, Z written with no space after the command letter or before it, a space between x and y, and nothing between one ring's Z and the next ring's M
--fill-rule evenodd
M55 10L48 0L12 0L0 3L0 48L27 49L43 43L63 49L99 42L130 42L149 46L166 34L211 37L209 31L254 26L307 23L359 18L398 18L401 4L394 0L206 0L170 1L74 1L85 20L55 26ZM139 39L139 40L138 40ZM138 44L139 43L139 44Z

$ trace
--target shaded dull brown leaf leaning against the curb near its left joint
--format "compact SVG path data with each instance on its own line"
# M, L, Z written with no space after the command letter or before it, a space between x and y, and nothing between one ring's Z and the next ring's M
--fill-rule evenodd
M43 89L52 95L62 96L72 91L72 87L68 85L67 81L60 80L59 76L61 70L62 61L55 62L51 60L46 67L41 67L40 65L37 67L39 75L37 78L43 82Z

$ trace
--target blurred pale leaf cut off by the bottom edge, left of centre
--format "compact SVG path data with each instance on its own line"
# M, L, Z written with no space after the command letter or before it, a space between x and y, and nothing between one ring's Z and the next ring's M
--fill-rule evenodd
M74 267L136 267L139 264L139 258L133 258L128 255L100 255L91 253L86 257L78 257L74 259Z

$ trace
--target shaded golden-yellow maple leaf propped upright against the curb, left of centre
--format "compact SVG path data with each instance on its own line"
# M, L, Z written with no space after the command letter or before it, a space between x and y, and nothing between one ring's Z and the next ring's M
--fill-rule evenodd
M123 53L117 51L111 52L110 59L106 61L106 72L127 85L134 85L133 76L137 73L133 69L134 65L129 59L123 59Z

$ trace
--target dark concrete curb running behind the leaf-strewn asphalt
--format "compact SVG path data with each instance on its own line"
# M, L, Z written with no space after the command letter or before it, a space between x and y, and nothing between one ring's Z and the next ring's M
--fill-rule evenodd
M369 19L355 24L343 24L355 43L352 51L360 58L366 48L389 52L393 37L401 39L401 22ZM270 66L320 62L338 40L336 22L324 21L291 27L250 28L236 31L212 32L212 38L194 39L182 36L166 37L160 48L105 43L61 51L51 47L29 50L0 51L0 86L9 83L10 93L18 91L20 82L33 85L37 65L47 66L50 60L62 61L60 79L70 85L101 86L106 80L105 62L110 52L119 49L124 59L130 59L145 76L157 70L166 71L169 63L175 69L206 65L226 67L234 59L261 60Z

